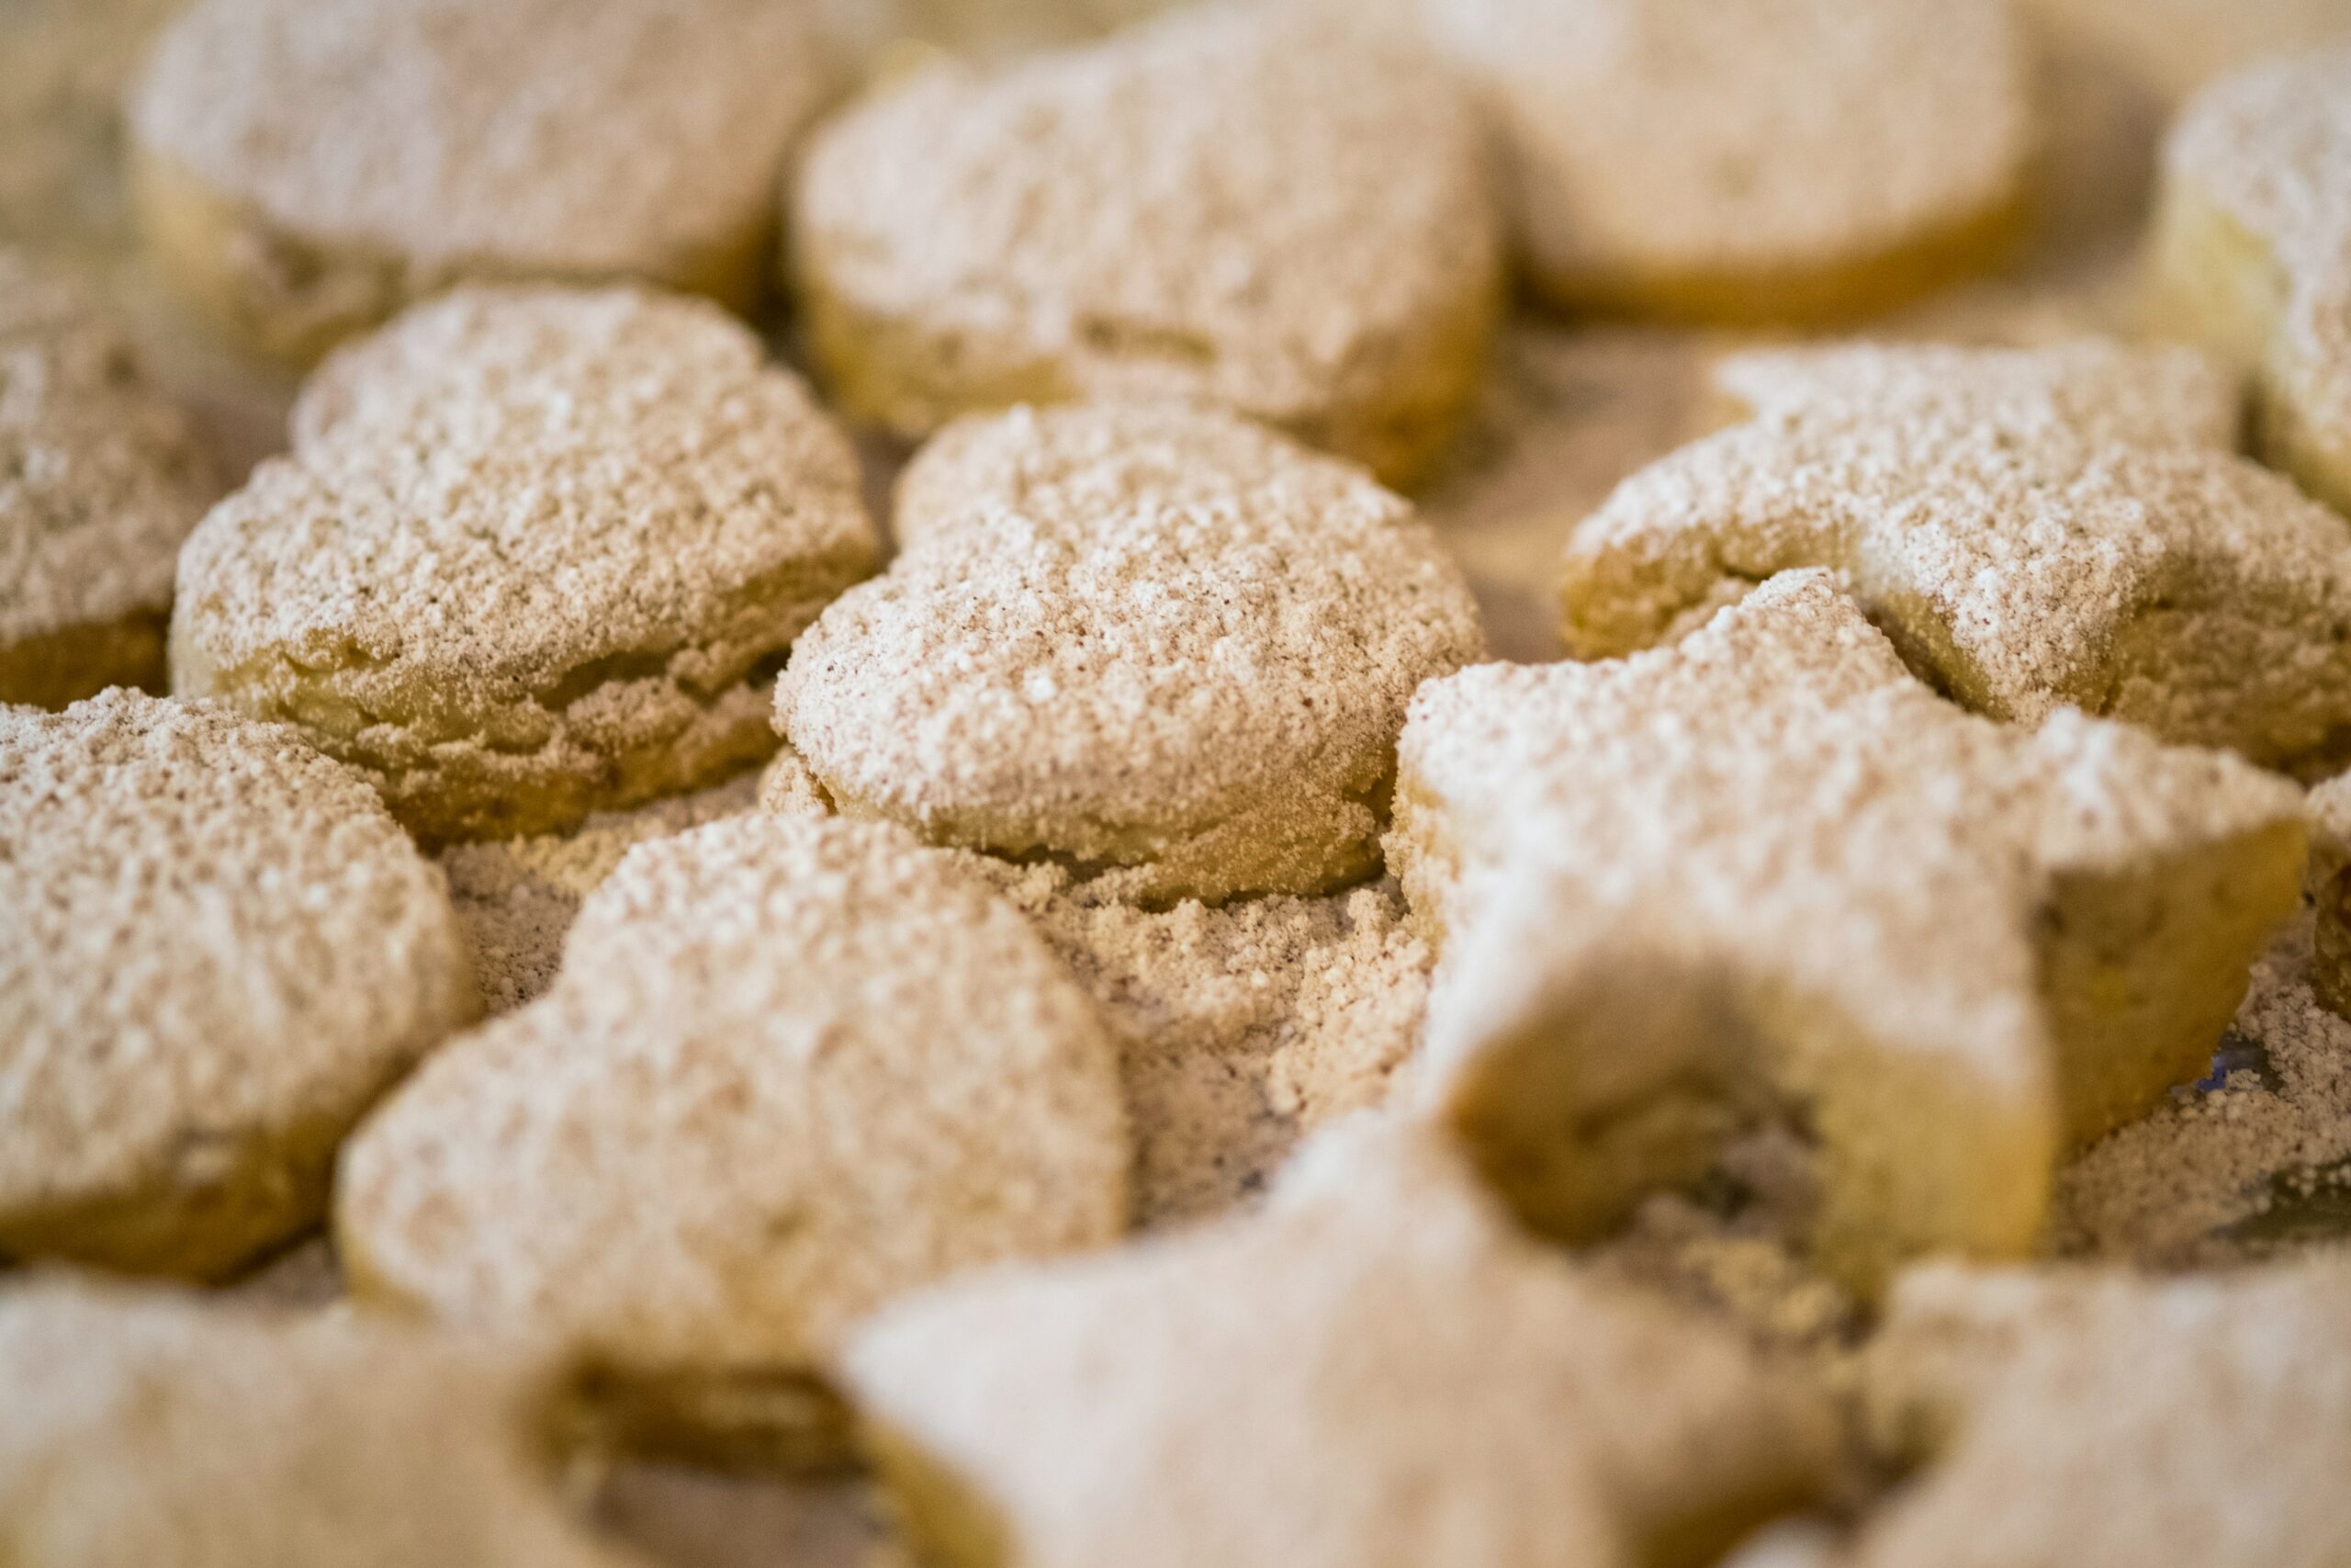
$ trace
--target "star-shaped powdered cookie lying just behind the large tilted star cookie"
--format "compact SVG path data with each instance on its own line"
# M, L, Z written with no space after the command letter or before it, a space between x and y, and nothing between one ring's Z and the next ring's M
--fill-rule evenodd
M1570 534L1575 656L1834 567L1911 668L1998 719L2081 708L2264 764L2351 724L2351 531L2229 451L2231 388L2193 350L1775 350L1719 381L1754 418Z

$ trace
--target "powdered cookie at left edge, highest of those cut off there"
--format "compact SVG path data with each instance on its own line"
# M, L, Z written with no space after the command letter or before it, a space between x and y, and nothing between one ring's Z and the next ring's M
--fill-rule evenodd
M0 703L160 686L179 541L219 494L96 301L0 247Z

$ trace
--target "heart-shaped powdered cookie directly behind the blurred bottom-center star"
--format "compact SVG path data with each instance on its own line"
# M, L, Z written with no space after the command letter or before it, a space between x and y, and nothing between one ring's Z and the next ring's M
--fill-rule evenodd
M644 844L543 999L353 1140L353 1291L578 1345L623 1441L820 1458L816 1378L889 1295L1114 1241L1128 1143L1093 1004L884 823Z

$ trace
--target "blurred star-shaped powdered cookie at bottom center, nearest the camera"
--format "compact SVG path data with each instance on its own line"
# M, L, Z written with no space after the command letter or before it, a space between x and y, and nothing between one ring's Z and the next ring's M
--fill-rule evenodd
M1808 1380L1404 1124L1319 1135L1260 1213L900 1302L844 1368L950 1563L1714 1561L1834 1450Z

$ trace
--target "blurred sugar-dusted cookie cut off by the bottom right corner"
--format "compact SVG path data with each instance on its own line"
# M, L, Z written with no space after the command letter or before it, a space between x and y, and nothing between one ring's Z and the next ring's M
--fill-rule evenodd
M1862 1380L1918 1476L1853 1568L2332 1568L2351 1559L2351 1265L1930 1267Z

